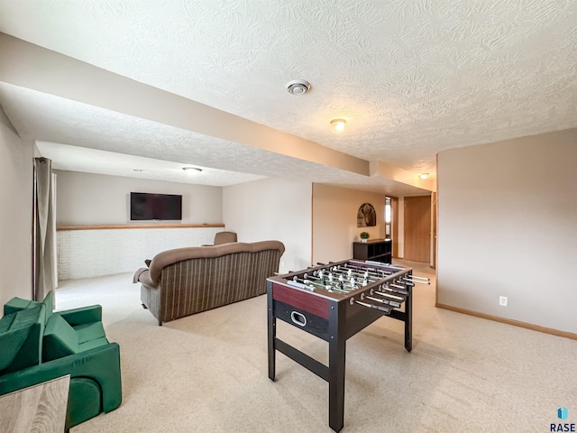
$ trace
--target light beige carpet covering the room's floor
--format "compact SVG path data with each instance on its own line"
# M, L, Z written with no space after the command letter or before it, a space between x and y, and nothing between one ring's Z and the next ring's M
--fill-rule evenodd
M435 309L434 286L414 299L412 353L392 318L347 341L343 432L545 432L561 406L577 421L577 341ZM94 303L121 347L124 401L73 433L331 431L325 381L281 354L268 378L266 295L159 327L132 274L60 282L57 309ZM324 341L278 323L326 363Z

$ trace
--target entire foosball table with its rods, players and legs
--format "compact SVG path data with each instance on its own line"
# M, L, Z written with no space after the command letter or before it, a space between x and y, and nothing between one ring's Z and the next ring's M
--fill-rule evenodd
M329 383L329 427L343 428L346 340L388 316L405 322L405 349L412 349L412 289L428 279L409 268L346 260L318 263L267 279L269 378L275 379L276 351ZM328 366L276 336L277 318L325 340Z

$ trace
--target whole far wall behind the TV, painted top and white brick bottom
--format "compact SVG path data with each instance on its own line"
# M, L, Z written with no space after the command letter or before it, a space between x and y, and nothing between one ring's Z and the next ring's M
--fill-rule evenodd
M223 189L55 170L57 226L130 224L130 192L182 195L183 224L222 224ZM161 222L133 221L133 224ZM222 227L58 231L60 280L136 271L161 251L212 244Z

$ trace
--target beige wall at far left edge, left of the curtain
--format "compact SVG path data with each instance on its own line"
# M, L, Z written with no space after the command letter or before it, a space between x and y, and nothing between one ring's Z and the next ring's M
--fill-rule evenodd
M14 133L0 108L0 305L14 296L32 298L34 148Z

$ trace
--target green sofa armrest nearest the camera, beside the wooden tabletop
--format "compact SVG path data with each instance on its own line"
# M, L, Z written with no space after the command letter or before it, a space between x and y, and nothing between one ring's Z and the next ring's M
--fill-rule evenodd
M122 402L120 347L109 343L76 355L34 365L0 376L0 395L14 392L70 374L70 381L87 377L98 383L102 390L102 408L105 412L116 409Z

